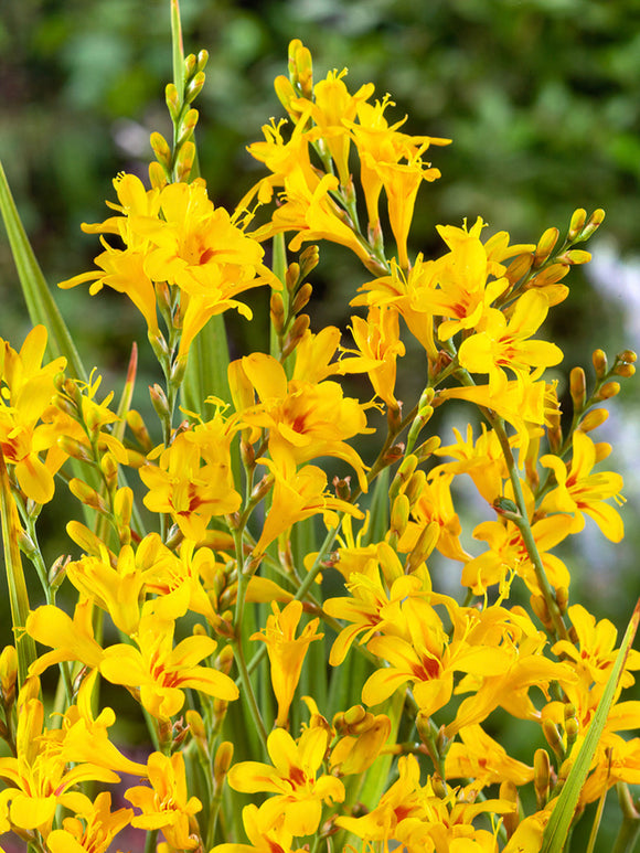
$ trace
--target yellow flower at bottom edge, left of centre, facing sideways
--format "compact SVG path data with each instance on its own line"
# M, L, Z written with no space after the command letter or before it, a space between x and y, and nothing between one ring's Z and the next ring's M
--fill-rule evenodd
M194 850L201 841L193 815L201 811L202 803L198 797L189 797L182 753L171 758L151 753L147 767L151 787L139 785L125 791L125 799L142 810L131 825L161 830L171 846Z

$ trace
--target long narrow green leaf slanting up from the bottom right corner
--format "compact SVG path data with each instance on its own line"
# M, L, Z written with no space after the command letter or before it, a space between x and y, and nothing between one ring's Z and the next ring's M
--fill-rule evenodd
M548 823L546 824L544 835L542 839L541 853L562 853L567 839L569 827L572 824L574 812L585 783L589 767L591 766L591 759L596 747L605 728L605 723L609 715L609 711L614 703L618 684L622 672L625 671L625 663L631 649L636 631L638 630L638 622L640 620L640 600L636 605L631 620L627 627L625 639L618 651L616 663L609 675L607 686L602 693L602 697L598 703L598 708L591 721L591 725L588 728L586 737L580 746L580 749L576 756L574 765L567 776L567 780L554 810L551 813Z

